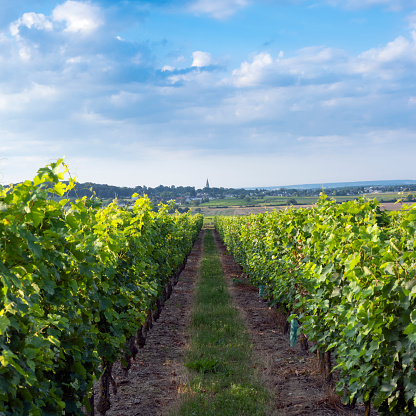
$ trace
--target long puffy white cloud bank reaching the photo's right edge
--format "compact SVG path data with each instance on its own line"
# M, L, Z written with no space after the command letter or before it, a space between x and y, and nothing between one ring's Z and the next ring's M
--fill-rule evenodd
M330 84L357 76L374 81L397 80L415 71L416 31L412 30L408 37L399 36L383 47L369 49L357 56L324 47L303 48L290 58L284 58L283 54L274 58L262 52L241 63L226 82L239 88L266 84Z

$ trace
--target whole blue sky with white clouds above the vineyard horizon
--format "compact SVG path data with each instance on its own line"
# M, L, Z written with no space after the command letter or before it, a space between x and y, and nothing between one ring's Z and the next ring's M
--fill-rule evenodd
M0 1L0 184L416 179L416 0Z

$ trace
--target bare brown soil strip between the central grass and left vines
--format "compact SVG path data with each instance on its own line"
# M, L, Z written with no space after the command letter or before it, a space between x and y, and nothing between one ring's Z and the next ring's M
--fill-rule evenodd
M179 282L165 302L159 319L153 323L146 345L139 350L128 374L119 362L114 364L113 377L118 393L111 394L112 405L106 416L162 416L178 399L178 391L184 384L182 357L203 241L204 230L198 236ZM99 413L96 412L96 415Z

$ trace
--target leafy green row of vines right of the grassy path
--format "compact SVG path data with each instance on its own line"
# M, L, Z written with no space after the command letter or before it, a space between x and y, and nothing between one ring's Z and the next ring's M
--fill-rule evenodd
M386 212L321 195L310 209L215 225L270 304L335 357L345 403L416 414L416 205Z

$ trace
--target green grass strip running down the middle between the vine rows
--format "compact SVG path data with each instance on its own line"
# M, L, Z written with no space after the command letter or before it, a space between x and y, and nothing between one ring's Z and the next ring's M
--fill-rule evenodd
M190 379L175 416L270 414L271 397L254 372L250 338L231 303L210 229L205 232L189 330Z

